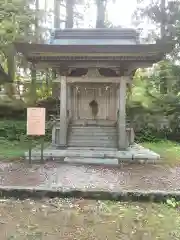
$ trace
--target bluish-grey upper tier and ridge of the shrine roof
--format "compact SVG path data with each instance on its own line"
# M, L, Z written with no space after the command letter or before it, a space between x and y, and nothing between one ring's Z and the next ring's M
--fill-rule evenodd
M50 45L134 45L139 42L134 29L54 29Z

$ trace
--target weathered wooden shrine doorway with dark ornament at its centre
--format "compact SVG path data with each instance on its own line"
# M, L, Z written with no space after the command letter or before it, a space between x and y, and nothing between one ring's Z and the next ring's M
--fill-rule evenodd
M116 120L115 84L76 83L73 85L73 119Z

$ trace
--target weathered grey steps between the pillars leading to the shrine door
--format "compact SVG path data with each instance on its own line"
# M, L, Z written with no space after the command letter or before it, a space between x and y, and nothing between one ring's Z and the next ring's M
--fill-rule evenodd
M69 125L68 147L117 148L115 125Z

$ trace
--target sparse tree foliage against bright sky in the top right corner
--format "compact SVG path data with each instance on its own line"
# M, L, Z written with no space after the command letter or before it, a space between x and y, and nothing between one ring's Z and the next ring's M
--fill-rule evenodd
M167 1L166 1L167 2ZM164 0L138 1L137 9L134 13L134 20L137 25L144 22L153 24L154 28L148 33L147 40L153 41L158 38L163 40L173 40L176 42L174 53L179 49L179 27L180 27L180 3L179 1ZM177 53L177 52L176 52ZM175 54L177 57L177 54Z

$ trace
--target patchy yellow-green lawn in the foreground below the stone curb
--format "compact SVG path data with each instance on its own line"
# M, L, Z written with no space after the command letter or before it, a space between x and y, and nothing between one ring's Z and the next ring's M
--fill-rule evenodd
M1 240L175 240L180 215L165 204L78 199L0 200Z

